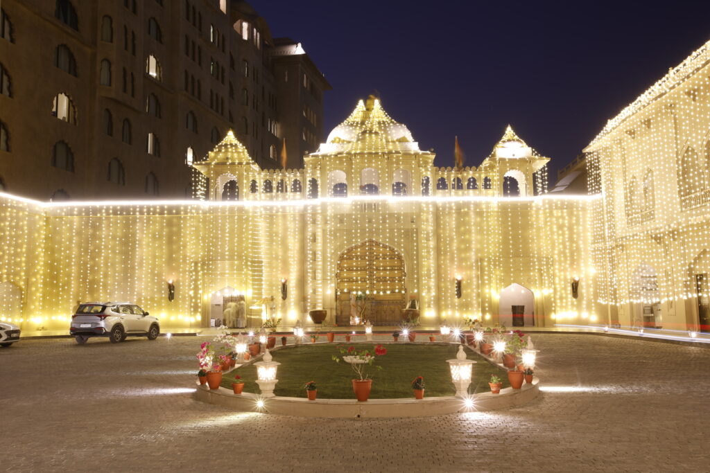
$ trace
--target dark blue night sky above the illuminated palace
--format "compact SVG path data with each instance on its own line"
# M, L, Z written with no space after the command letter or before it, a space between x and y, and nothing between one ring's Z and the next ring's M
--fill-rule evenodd
M553 183L608 119L710 40L707 0L251 5L332 84L326 135L376 92L436 165L453 165L454 135L466 165L480 165L510 123L552 158Z

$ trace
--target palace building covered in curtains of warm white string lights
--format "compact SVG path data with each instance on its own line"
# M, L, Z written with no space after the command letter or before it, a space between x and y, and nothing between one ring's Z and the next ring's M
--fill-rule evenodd
M373 97L298 169L262 169L228 133L193 165L202 200L4 194L4 317L65 328L77 301L120 299L200 327L244 298L258 326L273 296L283 325L348 325L362 293L376 325L415 299L426 325L708 328L709 48L586 148L588 195L547 192L548 158L510 127L479 167L434 167Z

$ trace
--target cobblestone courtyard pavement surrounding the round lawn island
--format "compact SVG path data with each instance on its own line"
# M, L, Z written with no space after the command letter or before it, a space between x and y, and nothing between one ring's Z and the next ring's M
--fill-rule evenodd
M192 399L203 338L0 350L0 469L707 471L710 350L533 335L544 393L493 413L335 420Z

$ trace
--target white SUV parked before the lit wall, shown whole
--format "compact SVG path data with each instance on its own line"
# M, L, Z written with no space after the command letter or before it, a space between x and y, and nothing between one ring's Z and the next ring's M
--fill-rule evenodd
M80 345L89 337L108 337L111 343L122 342L127 336L155 340L160 335L160 323L131 302L87 302L80 304L72 316L69 333Z

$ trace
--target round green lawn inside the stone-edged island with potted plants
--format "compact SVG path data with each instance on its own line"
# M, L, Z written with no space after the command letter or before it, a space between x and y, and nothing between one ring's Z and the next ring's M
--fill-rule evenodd
M303 385L315 381L320 399L352 399L351 379L354 371L350 365L341 361L334 362L332 355L340 355L338 344L300 345L286 347L272 353L273 360L280 362L278 367L278 384L276 396L306 397ZM358 350L373 350L374 344L356 344ZM383 344L387 354L377 357L374 365L368 367L367 373L373 379L371 399L392 399L412 397L412 380L417 376L424 377L425 394L431 396L453 396L454 385L451 382L449 365L446 360L456 357L458 345L414 345L414 344ZM469 360L475 360L474 374L469 393L490 391L488 379L491 374L501 378L503 387L508 387L508 377L502 369L486 362L474 352L466 350ZM231 389L234 375L238 374L244 380L244 391L258 393L256 384L256 367L248 365L234 369L224 374L222 386Z

